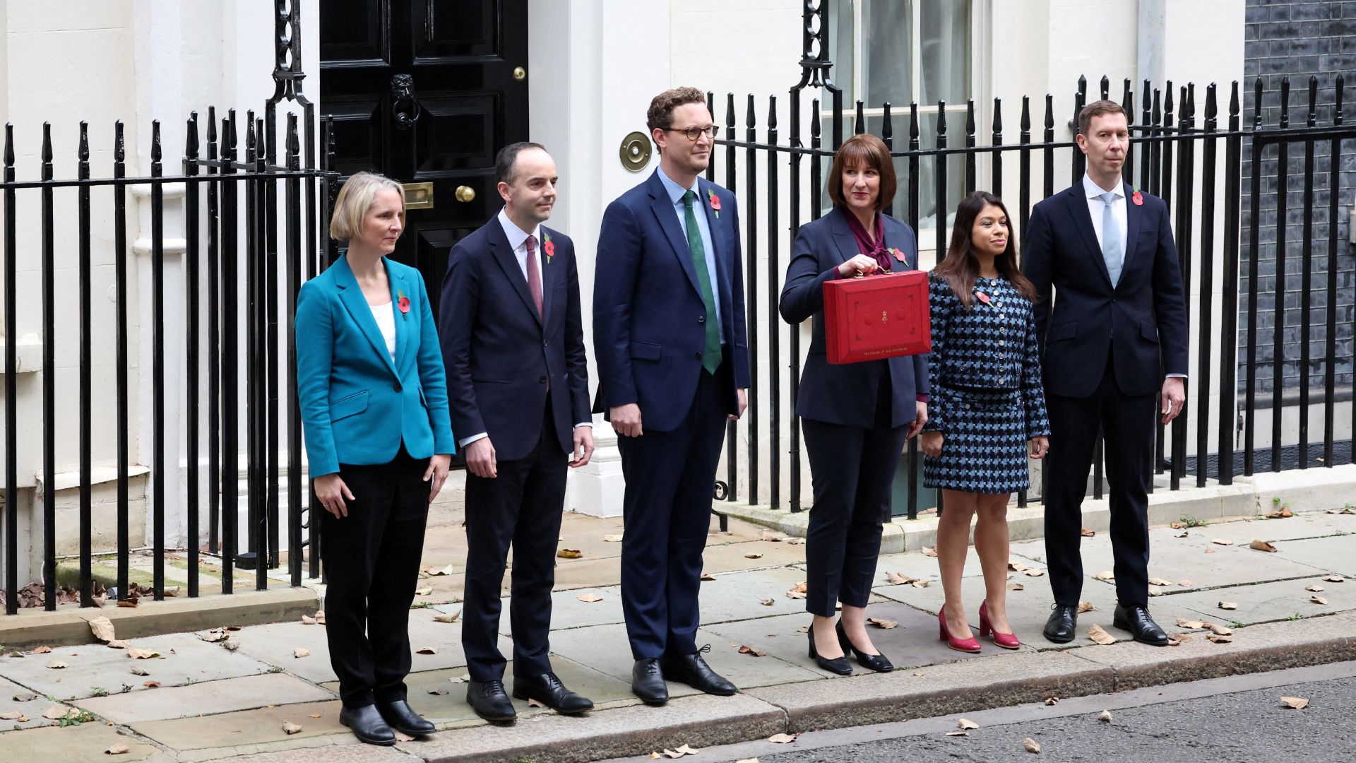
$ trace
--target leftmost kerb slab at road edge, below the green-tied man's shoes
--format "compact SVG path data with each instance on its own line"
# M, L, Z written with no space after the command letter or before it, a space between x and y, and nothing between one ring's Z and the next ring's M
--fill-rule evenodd
M633 705L586 717L545 713L511 726L452 729L399 747L428 762L582 763L648 755L697 739L705 747L782 730L784 714L777 707L747 695L702 694L671 699L663 707Z

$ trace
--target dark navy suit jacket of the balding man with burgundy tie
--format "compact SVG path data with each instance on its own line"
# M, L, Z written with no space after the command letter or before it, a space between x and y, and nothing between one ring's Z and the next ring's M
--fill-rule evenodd
M442 280L438 334L453 428L460 437L487 432L502 460L526 458L537 447L548 394L563 452L574 449L574 425L590 420L575 247L559 231L542 225L541 232L545 319L498 217L452 247ZM555 244L551 258L546 236Z

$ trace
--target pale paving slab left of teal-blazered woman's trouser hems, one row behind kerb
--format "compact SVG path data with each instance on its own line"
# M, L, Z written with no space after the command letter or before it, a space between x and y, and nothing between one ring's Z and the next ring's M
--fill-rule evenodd
M335 692L296 676L263 673L193 686L161 687L127 695L96 696L81 699L77 705L114 724L136 724L254 710L266 705L324 702L334 698Z

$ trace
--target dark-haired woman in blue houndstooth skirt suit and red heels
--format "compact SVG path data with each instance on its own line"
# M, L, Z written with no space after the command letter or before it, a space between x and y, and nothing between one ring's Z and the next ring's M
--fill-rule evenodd
M1026 456L1044 458L1050 422L1040 383L1032 304L1036 291L1017 267L1002 200L965 197L946 257L929 274L932 308L932 417L923 426L923 485L942 491L937 563L946 603L938 612L942 641L979 652L960 600L970 520L984 570L979 634L1017 649L1008 623L1008 498L1031 482Z

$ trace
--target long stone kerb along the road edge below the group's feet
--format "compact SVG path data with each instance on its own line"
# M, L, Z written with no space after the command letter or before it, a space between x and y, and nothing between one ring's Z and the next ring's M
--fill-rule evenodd
M1117 642L1064 652L991 654L887 675L753 688L734 698L682 696L666 706L677 713L631 705L597 710L587 718L541 714L513 726L452 728L400 748L428 763L515 758L580 763L682 744L702 748L781 732L930 718L1048 696L1086 696L1340 663L1356 658L1353 633L1356 612L1342 612L1249 626L1237 630L1231 644L1212 644L1193 634L1181 646ZM320 760L319 755L315 759Z

